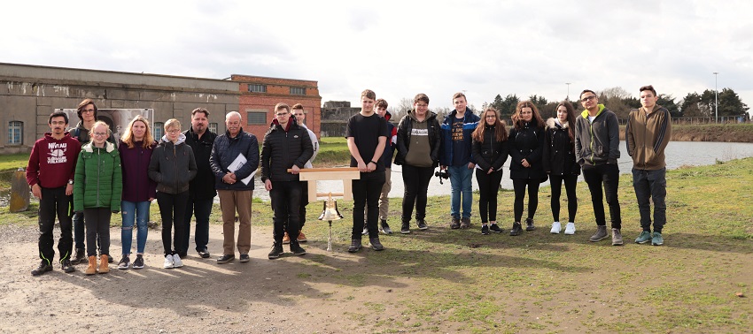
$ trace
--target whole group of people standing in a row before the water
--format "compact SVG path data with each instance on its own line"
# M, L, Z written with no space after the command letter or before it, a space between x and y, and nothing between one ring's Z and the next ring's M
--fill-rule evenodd
M638 199L642 232L636 243L662 245L666 223L664 148L671 135L669 111L656 105L654 87L640 87L641 107L630 113L625 127L627 151L633 157L633 187ZM450 228L470 228L472 176L479 188L478 210L482 234L502 232L497 224L497 194L509 157L515 202L514 223L509 234L535 229L541 182L552 187L552 233L562 231L560 197L564 184L568 221L564 234L574 234L578 200L575 194L580 172L594 205L597 230L590 241L609 237L602 198L606 194L611 221L612 245L622 245L620 206L617 201L620 156L617 116L599 103L592 90L580 95L584 110L576 114L570 102L557 105L556 118L546 122L532 102L519 102L508 129L498 110L485 109L481 117L468 108L466 96L453 96L454 110L439 123L429 110L429 96L415 95L413 109L397 126L389 121L387 102L372 90L361 93L361 111L345 127L350 166L360 178L353 186L353 231L348 252L361 250L361 238L384 250L379 232L392 234L387 222L388 194L392 187L392 163L401 165L405 185L400 233L408 234L414 216L418 230L428 229L427 191L435 169L450 180ZM183 266L190 245L190 221L196 221L194 241L201 258L209 258L209 216L219 196L222 216L222 254L217 263L250 260L253 178L269 192L274 212L273 245L269 259L283 254L290 244L292 254L303 255L306 242L307 183L299 172L312 168L319 148L316 135L304 123L300 104L292 108L277 103L274 120L264 134L261 151L256 137L241 126L241 115L225 115L227 130L209 131L210 112L191 111L191 124L182 131L177 119L165 123L165 135L152 138L146 118L137 116L120 138L109 126L97 121L97 106L86 99L79 103L81 121L68 128L65 112L48 118L50 133L35 142L27 165L27 182L39 204L38 276L52 270L52 231L56 216L60 225L58 256L65 272L89 263L85 273L109 271L110 219L122 216L122 256L118 269L144 268L150 205L157 200L162 220L162 244L166 269ZM523 220L525 194L527 215ZM653 220L650 205L654 203ZM238 224L236 240L236 222ZM564 222L563 222L564 223ZM653 225L652 225L653 223ZM136 227L136 258L131 262L133 229ZM653 227L653 232L652 232ZM97 263L97 260L99 261Z

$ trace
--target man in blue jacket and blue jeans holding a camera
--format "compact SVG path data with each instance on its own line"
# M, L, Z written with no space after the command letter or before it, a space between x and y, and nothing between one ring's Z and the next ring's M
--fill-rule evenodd
M439 155L441 170L450 173L450 228L470 227L470 210L473 205L473 168L476 167L470 153L479 118L468 108L468 101L462 93L453 95L455 109L442 122L442 149ZM462 213L461 213L462 194ZM461 216L462 214L462 216Z

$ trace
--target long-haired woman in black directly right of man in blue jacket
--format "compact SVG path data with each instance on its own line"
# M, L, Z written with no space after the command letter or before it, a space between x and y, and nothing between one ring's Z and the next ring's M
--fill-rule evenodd
M471 152L476 159L481 234L487 235L489 230L502 232L497 225L497 192L502 180L502 165L508 160L508 130L493 108L484 110L481 119L472 134Z

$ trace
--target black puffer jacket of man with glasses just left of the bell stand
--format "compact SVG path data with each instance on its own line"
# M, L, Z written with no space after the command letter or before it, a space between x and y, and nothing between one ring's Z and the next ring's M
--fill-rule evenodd
M294 164L299 168L306 165L308 159L314 155L314 146L308 138L308 131L300 127L291 117L288 121L288 131L275 119L264 133L261 143L261 181L298 181L297 174L287 170Z

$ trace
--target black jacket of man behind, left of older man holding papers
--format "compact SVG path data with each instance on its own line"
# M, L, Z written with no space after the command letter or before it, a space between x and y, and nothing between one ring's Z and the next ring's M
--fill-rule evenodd
M209 165L209 158L212 156L212 146L217 133L207 129L199 139L198 134L193 132L193 127L190 127L183 134L186 136L186 144L193 150L198 168L196 178L190 181L190 198L192 200L214 198L217 192L214 191L214 173L212 166Z

